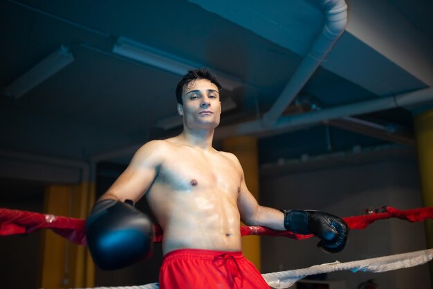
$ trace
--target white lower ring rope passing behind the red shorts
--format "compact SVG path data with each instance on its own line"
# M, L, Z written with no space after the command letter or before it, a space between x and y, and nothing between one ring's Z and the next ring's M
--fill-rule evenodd
M351 270L352 272L386 272L402 268L410 268L416 265L422 265L433 259L433 249L409 252L404 254L396 254L385 257L365 259L360 261L351 261L340 263L326 263L322 265L314 265L304 269L288 270L282 272L274 272L262 274L269 286L277 289L288 288L296 281L314 274L328 273L333 271ZM128 287L97 287L86 289L158 289L158 283L151 283L142 286Z

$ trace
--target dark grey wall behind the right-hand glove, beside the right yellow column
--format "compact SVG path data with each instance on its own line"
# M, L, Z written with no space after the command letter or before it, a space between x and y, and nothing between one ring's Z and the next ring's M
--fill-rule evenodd
M291 171L295 170L296 166L291 166ZM364 214L366 208L383 205L398 209L422 207L414 160L358 162L291 174L275 169L265 172L261 178L261 203L270 207L320 209L338 216L356 216ZM365 230L351 230L347 248L338 254L320 251L317 241L262 237L262 271L293 270L426 248L423 223L396 219L378 221ZM427 264L384 273L333 272L328 279L345 280L347 288L357 288L368 279L374 279L380 289L430 288Z

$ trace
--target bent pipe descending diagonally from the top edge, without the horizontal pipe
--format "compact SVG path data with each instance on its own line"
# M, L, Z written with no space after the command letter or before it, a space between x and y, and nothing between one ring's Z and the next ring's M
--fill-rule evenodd
M320 66L332 46L340 38L347 25L347 5L344 0L318 0L325 14L322 33L315 39L306 57L291 77L281 95L270 110L264 114L263 124L272 127L286 107L295 99L302 87Z

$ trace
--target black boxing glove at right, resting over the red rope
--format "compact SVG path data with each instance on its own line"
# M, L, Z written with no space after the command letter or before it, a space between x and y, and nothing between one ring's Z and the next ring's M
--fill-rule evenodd
M282 210L284 227L296 234L313 234L321 239L317 247L328 253L344 249L349 226L342 218L319 211Z

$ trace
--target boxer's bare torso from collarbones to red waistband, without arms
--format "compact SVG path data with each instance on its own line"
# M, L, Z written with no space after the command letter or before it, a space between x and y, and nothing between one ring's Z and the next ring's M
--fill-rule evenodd
M163 142L163 160L146 196L164 230L164 254L183 248L240 251L237 160Z

